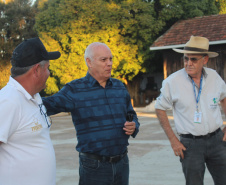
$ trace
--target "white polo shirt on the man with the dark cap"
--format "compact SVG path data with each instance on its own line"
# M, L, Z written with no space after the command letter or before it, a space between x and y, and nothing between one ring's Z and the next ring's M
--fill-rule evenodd
M55 185L56 160L42 99L13 78L0 90L0 185Z

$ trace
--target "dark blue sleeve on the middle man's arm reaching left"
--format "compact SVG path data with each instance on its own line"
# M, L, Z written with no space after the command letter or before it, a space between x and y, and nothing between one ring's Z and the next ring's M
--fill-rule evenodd
M42 98L43 104L47 109L48 116L60 112L72 112L74 109L74 102L72 101L70 86L65 85L58 93Z

